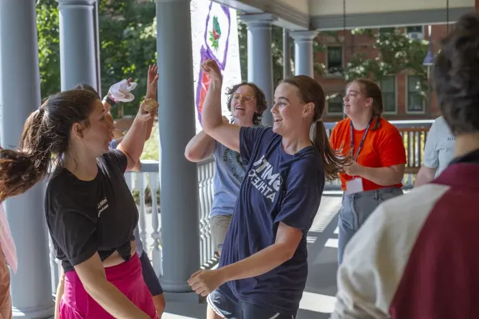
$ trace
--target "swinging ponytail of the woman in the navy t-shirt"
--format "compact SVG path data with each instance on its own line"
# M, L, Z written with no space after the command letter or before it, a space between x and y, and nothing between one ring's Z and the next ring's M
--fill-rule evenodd
M331 182L339 178L339 173L343 171L343 166L350 163L350 158L339 158L337 153L331 148L322 120L314 123L313 144L318 148L320 154L324 154L324 176L326 181Z

